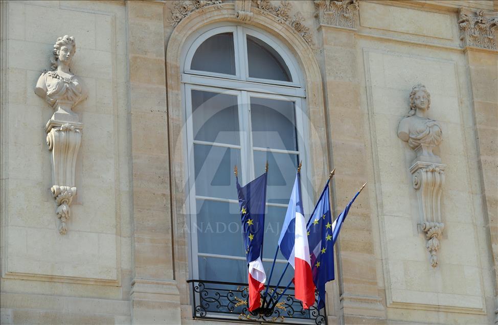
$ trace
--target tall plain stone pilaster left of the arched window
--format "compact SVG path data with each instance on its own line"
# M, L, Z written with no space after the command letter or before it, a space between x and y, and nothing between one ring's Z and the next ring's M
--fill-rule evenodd
M133 180L131 318L180 323L169 184L164 17L161 1L128 1Z

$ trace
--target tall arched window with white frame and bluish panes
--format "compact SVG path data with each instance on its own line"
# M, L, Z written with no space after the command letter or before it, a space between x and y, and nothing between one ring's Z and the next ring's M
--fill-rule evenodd
M297 166L307 160L303 78L278 40L224 26L190 42L182 82L192 276L244 283L247 266L233 168L239 167L245 184L262 174L268 161L263 262L269 271ZM278 259L276 274L286 265L280 254ZM287 272L285 280L291 277ZM272 284L277 281L278 276Z

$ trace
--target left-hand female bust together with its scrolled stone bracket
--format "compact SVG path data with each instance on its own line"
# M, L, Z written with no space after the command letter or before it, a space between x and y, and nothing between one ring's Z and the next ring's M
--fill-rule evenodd
M67 232L66 223L70 219L70 207L76 195L76 157L84 126L72 108L87 96L86 87L69 68L75 52L74 37L59 37L54 45L51 71L43 71L35 87L35 94L55 110L45 131L47 145L52 152L51 191L57 203L56 215L60 220L58 228L61 235Z

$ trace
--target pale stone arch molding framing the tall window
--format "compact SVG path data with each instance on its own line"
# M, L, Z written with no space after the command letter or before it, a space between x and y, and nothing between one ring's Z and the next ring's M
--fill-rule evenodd
M200 31L210 25L222 23L245 24L268 34L281 41L292 54L301 69L304 87L306 89L306 111L309 123L308 153L310 157L309 177L314 188L327 177L329 163L326 154L326 124L325 106L320 66L309 43L296 32L290 24L283 24L270 12L259 9L249 1L235 1L222 3L221 1L180 2L187 7L178 12L177 4L172 7L171 24L174 28L169 37L166 48L167 75L167 105L168 105L168 141L171 150L171 184L172 184L172 212L175 236L175 264L178 283L183 283L188 276L188 229L185 203L187 182L186 153L184 137L185 109L182 94L182 59L186 52L186 42L189 36L198 36ZM209 3L209 4L208 4ZM195 7L197 4L197 7ZM193 7L188 7L188 6ZM188 12L186 11L188 10ZM175 16L176 15L176 16ZM179 15L179 16L178 16ZM176 17L176 18L174 18ZM316 194L316 193L315 193ZM188 301L188 288L180 288L185 304Z

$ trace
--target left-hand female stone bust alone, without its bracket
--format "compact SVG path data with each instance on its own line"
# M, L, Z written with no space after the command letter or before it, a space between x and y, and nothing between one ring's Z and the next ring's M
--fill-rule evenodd
M86 87L69 69L75 52L74 37L64 35L57 38L50 60L51 71L43 71L36 83L35 94L57 109L54 120L78 122L78 116L71 108L87 96Z

